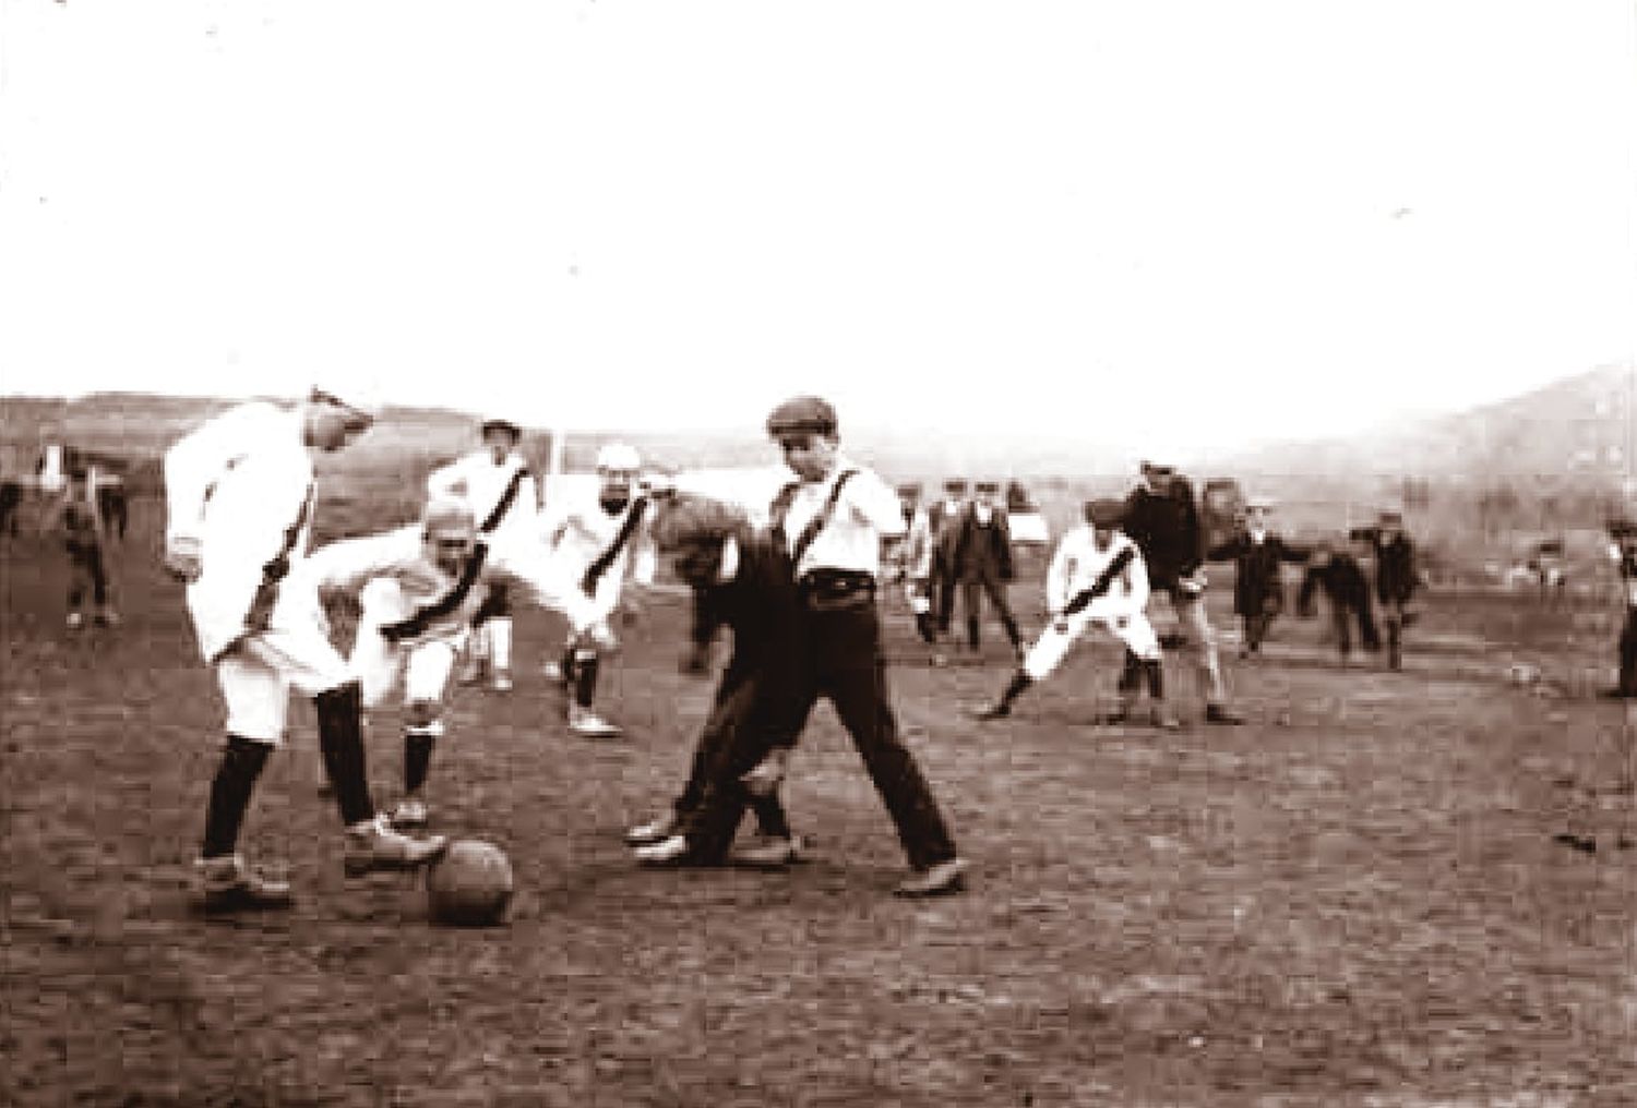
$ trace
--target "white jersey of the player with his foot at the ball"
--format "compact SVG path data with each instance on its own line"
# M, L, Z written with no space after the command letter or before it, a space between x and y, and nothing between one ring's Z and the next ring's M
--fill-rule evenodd
M313 453L300 409L232 408L177 440L164 470L165 535L200 543L187 602L206 661L259 630L272 609L316 606L283 588L313 532Z

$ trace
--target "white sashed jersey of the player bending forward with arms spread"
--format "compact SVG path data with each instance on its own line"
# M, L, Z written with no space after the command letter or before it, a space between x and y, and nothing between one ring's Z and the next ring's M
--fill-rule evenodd
M593 622L589 602L557 573L543 552L522 545L478 545L460 573L447 573L426 550L421 524L380 535L345 538L316 550L301 584L362 592L370 624L398 625L398 642L460 642L491 581L516 581L534 599L563 612L576 630ZM390 586L390 588L380 588Z

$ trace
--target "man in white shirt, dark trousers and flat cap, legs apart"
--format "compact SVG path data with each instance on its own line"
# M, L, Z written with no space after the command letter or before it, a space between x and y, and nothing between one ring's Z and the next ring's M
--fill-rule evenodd
M800 732L820 696L828 697L915 871L899 894L953 892L966 863L899 735L881 651L881 538L904 534L899 498L876 473L841 455L835 409L817 396L779 404L768 434L796 473L771 511L771 530L789 552L799 594L791 733Z

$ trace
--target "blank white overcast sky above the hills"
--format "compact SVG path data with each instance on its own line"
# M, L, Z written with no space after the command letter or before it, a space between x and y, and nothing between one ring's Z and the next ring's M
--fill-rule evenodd
M1637 347L1630 0L0 0L0 388L1164 448Z

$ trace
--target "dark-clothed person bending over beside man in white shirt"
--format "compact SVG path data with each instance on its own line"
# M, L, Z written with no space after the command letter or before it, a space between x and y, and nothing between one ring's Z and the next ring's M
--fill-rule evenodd
M710 502L676 506L661 530L666 548L676 552L676 574L694 589L692 651L684 668L704 669L722 627L733 635L733 655L683 792L671 812L632 828L625 841L648 866L714 864L727 856L748 805L761 833L732 859L789 864L800 851L778 797L782 761L796 738L791 720L779 718L781 710L787 712L796 674L797 596L789 556L769 535ZM779 771L764 771L764 787L751 790L745 776L773 751L779 751L773 758Z

